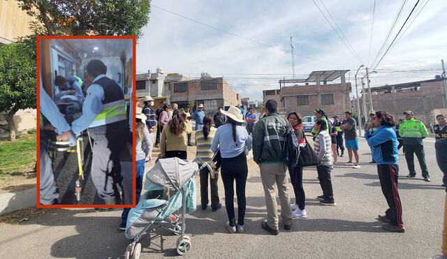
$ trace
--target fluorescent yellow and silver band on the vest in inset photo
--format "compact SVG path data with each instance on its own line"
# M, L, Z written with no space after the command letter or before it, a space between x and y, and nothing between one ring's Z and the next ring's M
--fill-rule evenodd
M126 102L124 99L105 103L103 110L96 116L89 128L111 124L117 121L123 121L126 117Z

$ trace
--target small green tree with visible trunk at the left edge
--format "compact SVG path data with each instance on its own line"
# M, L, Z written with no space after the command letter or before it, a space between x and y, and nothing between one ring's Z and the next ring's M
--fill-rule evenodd
M12 141L16 131L15 112L36 108L36 47L32 46L20 41L0 47L0 112L6 112Z

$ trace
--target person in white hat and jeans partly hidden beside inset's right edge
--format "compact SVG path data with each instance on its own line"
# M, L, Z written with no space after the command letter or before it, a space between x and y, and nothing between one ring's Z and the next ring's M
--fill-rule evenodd
M136 190L135 197L136 202L140 199L140 193L142 189L142 177L145 174L145 158L149 153L149 149L152 148L152 139L149 137L149 131L146 127L145 114L142 114L142 109L140 107L135 108L136 117L136 135L135 135L135 177L136 177ZM142 148L142 142L145 143L144 149ZM124 208L121 214L121 224L119 224L120 230L126 230L127 215L129 214L130 208Z

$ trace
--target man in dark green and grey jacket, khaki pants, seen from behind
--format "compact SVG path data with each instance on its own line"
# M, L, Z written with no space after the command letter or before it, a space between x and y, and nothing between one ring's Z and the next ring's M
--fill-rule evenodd
M265 103L265 116L256 123L253 133L253 157L261 168L261 181L265 193L265 207L267 207L267 220L262 221L261 227L272 235L279 234L275 184L281 202L284 229L291 230L292 224L283 154L287 126L288 122L277 113L277 102L268 100Z

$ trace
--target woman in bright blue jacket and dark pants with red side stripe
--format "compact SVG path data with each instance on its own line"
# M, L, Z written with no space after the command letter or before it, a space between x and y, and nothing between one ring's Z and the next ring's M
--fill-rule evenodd
M382 228L392 232L404 232L402 204L397 191L397 136L392 128L395 124L389 112L379 110L374 121L365 128L365 139L372 149L372 158L376 161L380 185L389 207L384 216L379 215L379 220L385 223ZM370 128L377 130L370 133Z

